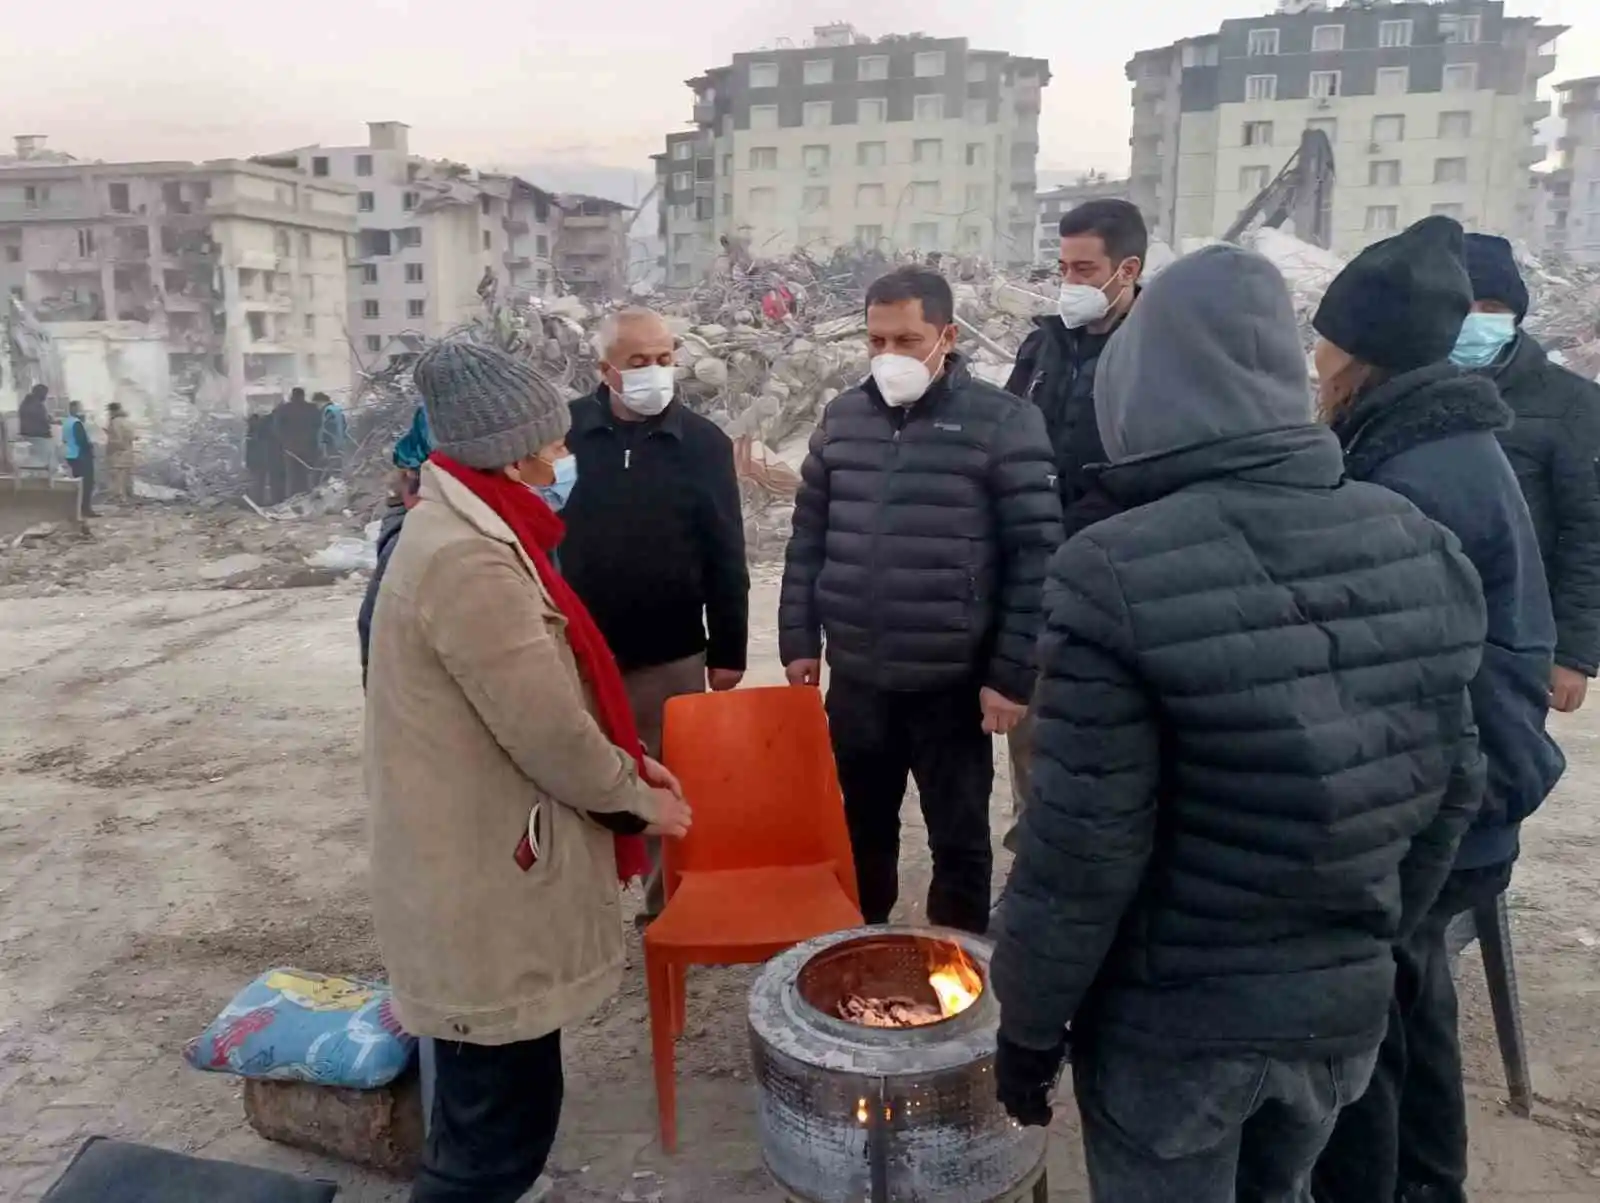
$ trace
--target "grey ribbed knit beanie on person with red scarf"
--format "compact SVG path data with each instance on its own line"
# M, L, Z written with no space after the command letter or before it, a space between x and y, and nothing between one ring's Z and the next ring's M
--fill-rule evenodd
M416 362L434 450L493 470L565 438L571 411L555 384L496 347L450 339Z

